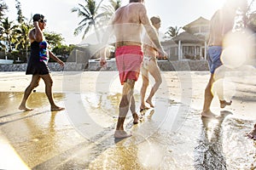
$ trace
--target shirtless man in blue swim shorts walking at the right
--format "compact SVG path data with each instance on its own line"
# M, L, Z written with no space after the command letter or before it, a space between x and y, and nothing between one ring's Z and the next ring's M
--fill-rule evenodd
M223 50L223 40L225 35L232 31L234 20L236 16L236 9L243 5L244 0L227 0L223 8L218 9L213 14L210 21L210 33L208 37L208 54L209 54L209 68L211 72L210 80L205 89L205 100L203 111L201 112L202 117L215 118L216 115L210 110L213 95L211 92L212 84L216 81L215 71L220 65L222 65L220 55ZM218 99L220 107L224 108L226 105L231 105L231 102L227 102L224 99L223 89L218 92Z

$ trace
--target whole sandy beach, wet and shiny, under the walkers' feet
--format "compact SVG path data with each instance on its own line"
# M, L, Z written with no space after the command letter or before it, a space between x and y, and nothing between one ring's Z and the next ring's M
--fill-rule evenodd
M115 140L122 87L117 71L53 72L53 91L66 111L50 111L40 82L19 111L31 77L0 72L0 169L253 169L256 148L244 135L255 121L255 71L226 73L231 106L212 111L219 120L201 119L207 71L162 71L154 110L137 125L131 112L125 129L133 136ZM153 80L150 79L152 83ZM142 81L135 86L139 109ZM149 87L152 84L149 84ZM147 94L149 93L149 90Z

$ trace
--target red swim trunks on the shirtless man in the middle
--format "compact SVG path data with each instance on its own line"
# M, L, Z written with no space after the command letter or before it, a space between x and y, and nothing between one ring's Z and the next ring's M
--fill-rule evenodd
M143 51L140 46L131 45L116 48L115 60L122 85L127 79L137 81L143 62Z

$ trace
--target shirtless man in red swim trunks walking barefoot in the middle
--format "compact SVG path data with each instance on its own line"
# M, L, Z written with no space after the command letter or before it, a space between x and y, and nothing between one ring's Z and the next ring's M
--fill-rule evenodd
M143 26L154 42L161 56L166 56L160 45L154 27L150 25L147 10L143 0L130 0L130 3L119 8L111 23L114 37L116 38L115 59L119 70L120 82L123 86L122 99L119 104L119 118L114 133L114 138L121 139L130 137L131 134L124 130L124 122L129 106L134 123L137 123L137 113L135 111L135 101L133 98L133 88L140 73L143 61L141 33ZM105 42L105 37L103 42ZM107 38L108 39L108 38ZM106 65L106 53L101 57L101 65Z

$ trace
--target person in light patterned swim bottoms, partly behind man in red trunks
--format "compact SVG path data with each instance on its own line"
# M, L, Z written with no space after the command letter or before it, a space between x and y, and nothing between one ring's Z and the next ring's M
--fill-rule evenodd
M160 29L160 17L153 16L150 18L152 25L154 26L155 30L158 32ZM148 35L145 35L143 38L143 66L142 66L142 76L143 76L143 86L141 88L141 106L140 111L148 109L145 104L145 94L148 88L148 72L152 77L154 77L154 86L150 90L150 94L148 95L148 99L146 102L150 107L154 107L152 103L152 98L160 87L162 82L162 78L160 75L160 68L157 65L156 58L159 58L157 50L154 48L153 42L150 41Z

